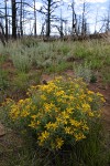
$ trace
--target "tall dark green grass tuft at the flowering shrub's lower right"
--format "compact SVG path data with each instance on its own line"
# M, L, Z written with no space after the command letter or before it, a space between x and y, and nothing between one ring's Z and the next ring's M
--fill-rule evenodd
M108 153L105 152L106 139L102 135L103 132L101 122L94 122L92 127L89 132L90 133L87 136L87 139L79 142L75 146L78 163L80 163L80 165L82 166L107 166Z

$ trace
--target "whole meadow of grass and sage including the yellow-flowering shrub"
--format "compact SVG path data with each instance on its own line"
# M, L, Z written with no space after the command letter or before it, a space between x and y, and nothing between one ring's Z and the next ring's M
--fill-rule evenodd
M106 100L89 85L100 77L109 84L109 45L57 43L22 40L1 48L0 121L22 139L14 160L11 148L9 166L108 166ZM51 80L43 84L45 74Z

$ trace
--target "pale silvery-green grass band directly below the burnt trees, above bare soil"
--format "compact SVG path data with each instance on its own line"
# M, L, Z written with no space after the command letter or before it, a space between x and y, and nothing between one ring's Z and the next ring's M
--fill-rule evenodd
M13 48L13 49L11 49ZM105 71L110 65L110 46L107 41L89 40L82 42L38 42L35 39L23 39L16 42L10 42L6 48L2 46L0 54L12 60L13 65L20 72L30 72L35 69L46 69L50 73L63 72L72 69L68 58L75 58L82 63L90 63L90 70ZM1 59L0 59L1 60ZM4 61L4 56L3 60ZM80 64L77 61L77 65ZM103 72L102 72L103 73ZM105 77L105 75L102 75ZM107 79L106 82L109 82Z

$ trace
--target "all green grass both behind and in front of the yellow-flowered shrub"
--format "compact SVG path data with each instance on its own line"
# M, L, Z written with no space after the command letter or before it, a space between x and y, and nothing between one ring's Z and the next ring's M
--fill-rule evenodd
M75 60L68 62L68 58ZM10 42L7 48L0 45L0 65L8 59L16 72L11 73L11 79L9 70L0 68L0 103L7 96L16 100L24 97L30 85L41 83L43 73L62 74L70 69L85 81L96 82L98 72L105 85L110 83L110 44L107 41L44 43L35 39L23 39ZM0 110L0 118L1 112ZM20 148L11 147L11 151L0 156L0 166L109 166L110 151L102 135L99 123L95 124L87 139L73 145L73 148L66 147L65 151L50 153L30 144Z

